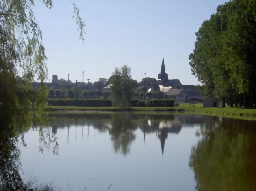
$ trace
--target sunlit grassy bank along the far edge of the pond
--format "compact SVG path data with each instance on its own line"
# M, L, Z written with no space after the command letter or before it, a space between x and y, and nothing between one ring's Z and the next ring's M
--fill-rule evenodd
M230 108L230 107L202 107L202 104L195 104L195 107L189 107L189 104L180 104L175 107L74 107L74 106L48 106L47 111L54 113L86 113L91 111L131 111L134 113L184 113L195 115L222 116L228 118L256 120L256 109Z

